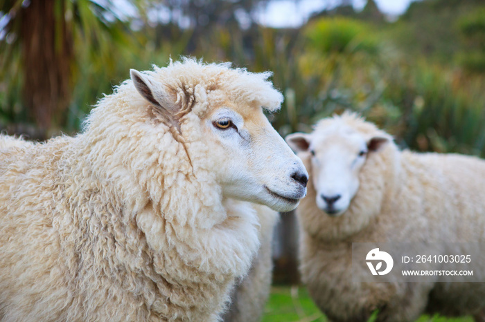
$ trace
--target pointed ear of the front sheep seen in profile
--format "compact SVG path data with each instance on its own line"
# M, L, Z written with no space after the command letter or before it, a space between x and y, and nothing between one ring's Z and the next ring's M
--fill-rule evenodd
M165 111L170 115L177 113L177 106L175 105L176 98L174 95L170 95L167 91L168 88L164 88L163 84L159 84L159 82L156 82L155 79L149 75L141 74L138 70L134 69L130 69L130 77L136 91L138 91L145 100L161 108L161 111Z

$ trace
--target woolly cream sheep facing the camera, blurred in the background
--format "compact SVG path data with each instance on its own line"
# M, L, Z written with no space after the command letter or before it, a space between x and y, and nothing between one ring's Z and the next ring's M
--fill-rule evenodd
M359 283L351 268L352 243L484 242L483 160L400 151L354 113L286 140L310 173L297 209L300 271L329 319L367 321L377 310L378 321L414 321L424 312L483 321L484 283ZM482 265L474 275L484 272Z

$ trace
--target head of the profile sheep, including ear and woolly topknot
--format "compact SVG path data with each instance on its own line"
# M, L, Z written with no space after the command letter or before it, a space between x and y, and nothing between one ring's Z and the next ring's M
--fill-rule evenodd
M282 100L267 82L268 74L192 60L175 66L180 71L170 70L168 80L157 73L164 68L130 74L138 93L155 106L177 140L190 142L185 144L188 158L204 154L224 198L276 211L297 207L306 195L308 173L263 113L263 106L276 110ZM204 149L193 151L195 142Z

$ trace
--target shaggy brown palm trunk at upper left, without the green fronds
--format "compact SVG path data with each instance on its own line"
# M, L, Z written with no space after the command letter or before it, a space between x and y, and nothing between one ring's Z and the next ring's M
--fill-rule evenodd
M62 124L71 96L73 39L65 0L30 0L21 10L24 103L41 131Z

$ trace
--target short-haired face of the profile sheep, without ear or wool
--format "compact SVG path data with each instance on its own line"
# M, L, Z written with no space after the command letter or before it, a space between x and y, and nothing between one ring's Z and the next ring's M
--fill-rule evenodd
M206 143L224 196L290 211L306 195L308 173L301 160L273 129L261 107L213 108L205 120Z

